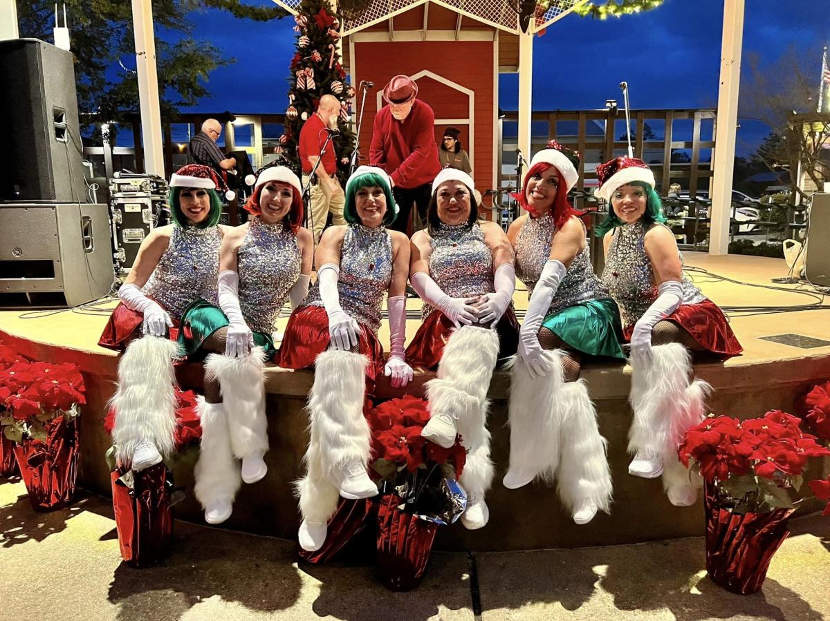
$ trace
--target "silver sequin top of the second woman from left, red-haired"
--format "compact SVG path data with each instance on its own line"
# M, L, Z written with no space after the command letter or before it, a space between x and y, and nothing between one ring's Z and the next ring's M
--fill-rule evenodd
M302 253L297 238L282 222L251 220L237 250L239 305L248 327L270 334L274 320L300 277Z

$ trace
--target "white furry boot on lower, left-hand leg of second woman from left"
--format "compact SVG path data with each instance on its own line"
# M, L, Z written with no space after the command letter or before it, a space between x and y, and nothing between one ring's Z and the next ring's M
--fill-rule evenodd
M242 479L228 437L227 412L222 403L207 403L198 397L197 412L202 426L199 460L193 468L193 492L205 510L205 522L219 524L231 517L233 499Z

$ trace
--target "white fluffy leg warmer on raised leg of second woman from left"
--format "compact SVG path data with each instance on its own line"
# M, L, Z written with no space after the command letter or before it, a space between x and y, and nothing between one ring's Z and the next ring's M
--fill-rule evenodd
M219 381L231 449L240 459L268 450L264 364L262 347L254 347L242 358L210 354L205 359L205 371Z

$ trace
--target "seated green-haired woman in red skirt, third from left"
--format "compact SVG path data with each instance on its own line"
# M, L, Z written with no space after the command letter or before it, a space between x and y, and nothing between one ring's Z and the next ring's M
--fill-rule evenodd
M349 226L326 229L317 247L317 282L291 314L280 347L280 366L315 367L309 393L311 440L300 496L300 546L319 550L339 497L375 496L369 478L371 429L364 404L379 374L406 386L405 361L409 240L388 230L397 207L392 182L381 168L361 166L346 182L344 218ZM380 309L388 295L389 360L378 341Z

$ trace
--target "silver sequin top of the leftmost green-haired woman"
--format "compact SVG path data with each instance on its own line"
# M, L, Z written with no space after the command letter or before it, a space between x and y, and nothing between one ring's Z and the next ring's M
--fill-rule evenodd
M144 286L144 294L174 318L181 318L198 298L217 304L220 245L222 233L218 226L173 226L170 243Z

